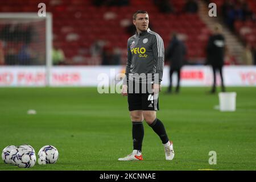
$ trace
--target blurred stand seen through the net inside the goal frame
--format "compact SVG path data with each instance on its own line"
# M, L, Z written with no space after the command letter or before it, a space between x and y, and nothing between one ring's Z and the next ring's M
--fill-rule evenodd
M15 20L17 22L17 20ZM1 20L0 20L1 22ZM4 65L45 65L46 35L43 21L0 23L0 63Z

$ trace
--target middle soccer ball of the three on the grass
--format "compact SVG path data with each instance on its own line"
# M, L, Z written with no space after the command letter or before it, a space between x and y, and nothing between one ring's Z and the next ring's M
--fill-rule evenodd
M36 163L36 155L33 151L23 151L18 152L18 160L16 160L16 164L20 168L30 168L35 166Z

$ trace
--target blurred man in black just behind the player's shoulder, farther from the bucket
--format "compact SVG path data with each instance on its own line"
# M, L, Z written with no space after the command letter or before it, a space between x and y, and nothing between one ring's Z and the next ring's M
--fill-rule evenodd
M183 66L184 57L187 52L187 48L184 43L177 39L176 33L172 34L171 42L166 50L166 59L170 61L170 85L167 93L172 92L172 73L177 72L177 86L176 93L180 90L180 70Z

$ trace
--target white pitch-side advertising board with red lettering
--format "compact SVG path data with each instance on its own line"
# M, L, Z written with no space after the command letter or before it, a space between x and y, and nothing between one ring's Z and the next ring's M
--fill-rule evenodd
M164 67L162 86L169 84L169 69ZM226 86L256 86L256 66L225 66L223 72ZM96 86L109 87L109 93L116 93L122 86L125 66L54 66L48 81L47 74L44 66L0 66L0 86ZM172 79L175 85L175 73ZM181 69L181 86L211 86L212 82L209 66L189 65Z

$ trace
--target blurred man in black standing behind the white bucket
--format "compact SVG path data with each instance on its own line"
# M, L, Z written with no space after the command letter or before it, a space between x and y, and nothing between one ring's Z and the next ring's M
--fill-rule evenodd
M220 72L221 77L221 90L225 92L225 86L222 76L222 67L224 65L225 55L225 38L222 35L222 27L216 24L214 27L213 35L210 36L207 45L207 62L213 69L213 86L210 93L216 92L216 72Z

